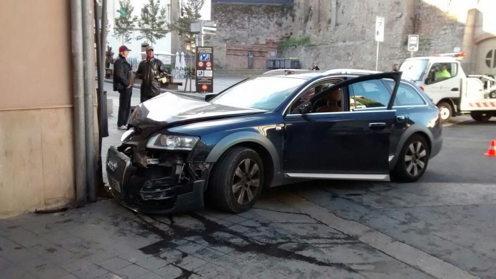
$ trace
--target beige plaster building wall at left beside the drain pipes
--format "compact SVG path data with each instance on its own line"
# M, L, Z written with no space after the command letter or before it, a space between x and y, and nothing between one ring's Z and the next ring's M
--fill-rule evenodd
M70 1L0 1L0 218L74 199Z

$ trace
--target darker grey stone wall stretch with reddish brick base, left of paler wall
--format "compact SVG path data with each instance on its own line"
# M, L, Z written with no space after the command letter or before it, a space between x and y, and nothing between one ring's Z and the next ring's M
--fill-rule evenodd
M266 60L277 55L280 41L290 37L292 5L212 4L217 35L205 45L215 47L217 67L248 68L248 52L253 52L253 68L265 69Z

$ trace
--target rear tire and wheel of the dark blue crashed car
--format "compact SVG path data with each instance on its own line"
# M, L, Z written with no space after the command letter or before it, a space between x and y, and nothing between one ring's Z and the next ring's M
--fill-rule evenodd
M419 180L427 169L429 156L427 140L420 135L413 135L401 148L394 169L394 177L400 182Z

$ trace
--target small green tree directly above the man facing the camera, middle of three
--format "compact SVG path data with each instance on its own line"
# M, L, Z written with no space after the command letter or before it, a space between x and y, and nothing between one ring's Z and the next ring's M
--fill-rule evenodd
M160 0L149 0L141 9L141 18L138 21L141 35L136 38L147 39L153 45L165 37L169 33L166 14L165 7L160 7Z

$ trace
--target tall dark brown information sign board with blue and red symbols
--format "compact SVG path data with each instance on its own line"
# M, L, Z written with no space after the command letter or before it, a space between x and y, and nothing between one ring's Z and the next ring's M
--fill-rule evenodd
M213 93L214 90L214 50L212 47L196 48L196 92Z

